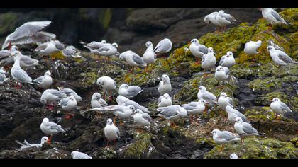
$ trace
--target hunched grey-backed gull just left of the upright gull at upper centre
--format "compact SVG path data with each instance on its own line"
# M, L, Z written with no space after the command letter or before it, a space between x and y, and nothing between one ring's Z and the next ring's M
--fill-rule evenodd
M126 64L132 67L131 72L135 67L147 67L147 64L144 62L143 58L131 50L122 52L119 55L119 59L121 59L123 62L126 62Z

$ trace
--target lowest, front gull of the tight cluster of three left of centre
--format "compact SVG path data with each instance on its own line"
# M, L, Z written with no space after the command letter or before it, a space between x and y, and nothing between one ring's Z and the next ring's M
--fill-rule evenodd
M77 100L75 100L75 96L62 98L58 105L61 106L62 110L65 110L65 119L70 119L73 115L68 112L77 108Z

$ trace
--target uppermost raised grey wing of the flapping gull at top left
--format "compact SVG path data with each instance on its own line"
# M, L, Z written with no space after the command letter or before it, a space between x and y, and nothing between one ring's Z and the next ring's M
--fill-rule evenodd
M51 21L31 21L24 23L19 28L16 28L11 35L9 35L9 40L17 40L18 38L33 35L48 26L50 23Z

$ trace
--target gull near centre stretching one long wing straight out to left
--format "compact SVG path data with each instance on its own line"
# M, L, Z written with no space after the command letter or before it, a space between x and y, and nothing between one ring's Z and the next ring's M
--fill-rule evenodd
M112 113L115 115L114 117L114 124L116 122L116 117L120 117L123 120L129 120L131 119L131 115L133 114L133 111L135 108L133 105L109 105L106 107L101 107L101 108L92 108L87 111L92 111L92 110L99 110L101 113ZM121 125L123 125L122 122L120 122Z

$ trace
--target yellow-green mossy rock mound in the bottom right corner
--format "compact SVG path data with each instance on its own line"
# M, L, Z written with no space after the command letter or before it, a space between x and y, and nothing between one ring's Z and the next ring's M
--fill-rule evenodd
M228 159L230 154L237 154L241 159L297 159L298 149L290 142L281 142L276 139L261 139L248 137L241 144L225 144L223 152L220 152L221 146L215 146L214 149L205 154L207 159Z

